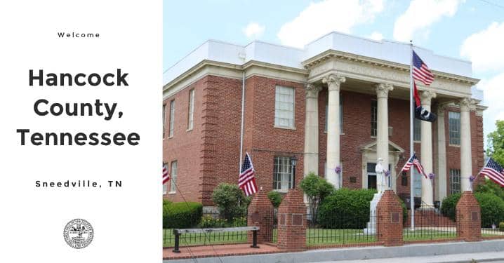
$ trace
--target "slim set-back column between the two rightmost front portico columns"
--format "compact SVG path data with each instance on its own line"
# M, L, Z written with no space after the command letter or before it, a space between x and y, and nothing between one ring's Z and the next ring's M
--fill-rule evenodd
M436 200L443 201L446 197L446 135L444 131L444 104L437 106L437 175Z

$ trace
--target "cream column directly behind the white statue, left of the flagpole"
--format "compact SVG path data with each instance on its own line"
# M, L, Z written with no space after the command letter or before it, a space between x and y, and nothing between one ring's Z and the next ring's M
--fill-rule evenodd
M383 159L382 166L388 170L388 92L394 90L394 86L388 83L378 83L375 85L376 97L378 100L378 116L376 130L376 158ZM376 188L378 192L385 191L387 187L383 184L382 175L376 175Z

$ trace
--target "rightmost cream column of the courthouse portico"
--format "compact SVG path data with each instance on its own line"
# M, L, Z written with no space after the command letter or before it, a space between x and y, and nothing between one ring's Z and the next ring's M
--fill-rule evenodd
M472 175L470 111L476 109L476 104L470 97L463 98L458 104L460 105L460 191L470 191L469 177Z

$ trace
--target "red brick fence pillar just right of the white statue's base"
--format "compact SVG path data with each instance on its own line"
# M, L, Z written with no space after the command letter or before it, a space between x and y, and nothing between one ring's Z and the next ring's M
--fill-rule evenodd
M403 245L402 205L392 190L386 190L376 205L376 238L385 246Z

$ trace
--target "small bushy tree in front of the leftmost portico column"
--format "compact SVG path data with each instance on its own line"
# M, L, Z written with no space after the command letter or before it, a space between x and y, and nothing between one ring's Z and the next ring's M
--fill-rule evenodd
M324 200L324 198L334 191L333 185L327 182L324 178L319 177L319 175L309 173L305 178L303 178L303 180L301 180L299 187L303 189L306 197L308 198L312 221L317 222L319 204Z

